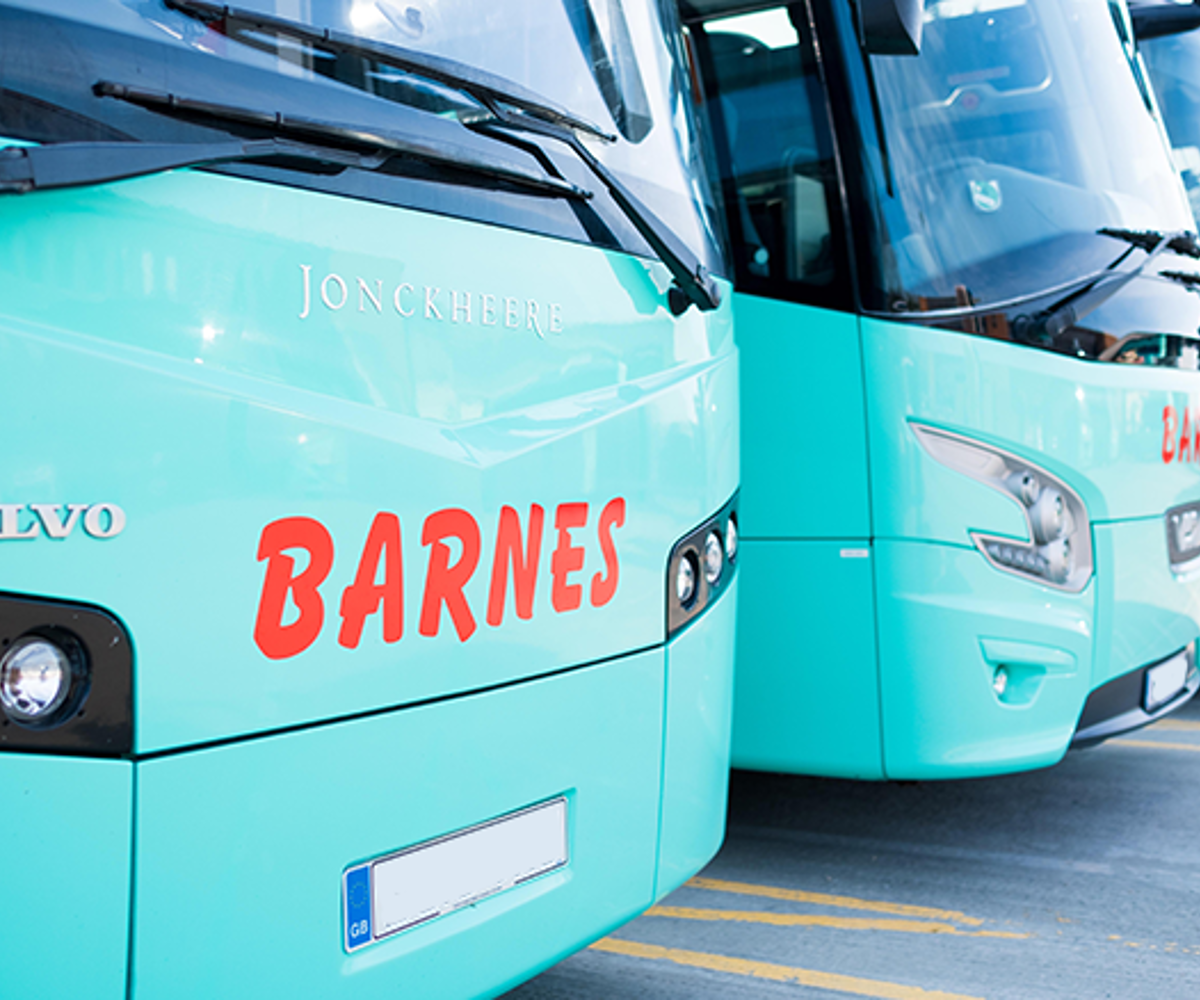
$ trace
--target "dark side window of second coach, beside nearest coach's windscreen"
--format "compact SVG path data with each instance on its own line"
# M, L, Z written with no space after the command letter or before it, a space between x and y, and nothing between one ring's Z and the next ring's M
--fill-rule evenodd
M713 17L697 34L738 286L823 304L842 277L838 185L797 6Z

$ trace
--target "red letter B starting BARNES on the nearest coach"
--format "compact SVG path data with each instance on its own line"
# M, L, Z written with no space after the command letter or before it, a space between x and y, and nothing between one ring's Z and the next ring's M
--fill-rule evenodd
M288 549L304 549L308 565L295 575L295 559ZM334 539L325 526L312 517L284 517L263 528L258 561L266 559L263 595L254 621L254 642L272 660L294 657L307 649L325 623L325 604L318 587L334 565ZM283 624L288 593L300 611L292 624Z

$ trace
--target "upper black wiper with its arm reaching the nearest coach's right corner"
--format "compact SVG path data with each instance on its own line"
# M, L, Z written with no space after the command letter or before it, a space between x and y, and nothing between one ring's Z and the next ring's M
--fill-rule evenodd
M529 132L557 139L568 145L590 173L608 190L613 203L629 220L655 256L671 271L674 285L668 293L671 311L678 316L688 306L701 311L716 309L720 288L700 258L608 170L580 140L578 133L605 142L616 142L592 122L554 106L538 94L503 77L484 72L452 59L412 52L400 46L372 42L330 29L317 29L302 22L260 14L244 7L210 4L205 0L166 0L167 6L205 24L235 22L265 32L293 38L314 48L359 56L402 70L414 76L452 86L473 97L490 118L463 121L466 127L508 140L505 130Z

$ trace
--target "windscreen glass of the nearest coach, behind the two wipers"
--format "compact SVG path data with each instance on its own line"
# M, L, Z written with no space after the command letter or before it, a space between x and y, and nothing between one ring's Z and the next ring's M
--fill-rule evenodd
M712 234L712 194L695 145L686 82L676 60L678 25L670 5L246 0L241 6L454 59L500 74L594 121L617 137L611 144L594 142L595 154L706 263L722 270ZM31 58L19 58L23 54ZM36 142L215 138L212 121L167 119L97 98L92 86L98 79L415 136L499 157L534 174L545 169L536 150L515 149L464 127L486 113L466 92L376 60L330 53L284 34L247 28L244 20L206 23L169 10L162 0L0 4L0 133ZM552 140L542 145L570 180L596 187L565 146ZM401 167L406 179L422 175L412 164ZM539 203L509 191L490 192L484 199L462 191L434 197L428 190L415 191L410 180L406 185L349 176L354 173L338 179L290 176L287 182L402 204L420 203L424 194L439 211L644 252L628 222L604 210L602 191L594 202L602 217L596 217L596 211L578 205ZM425 169L424 175L438 180L436 170Z

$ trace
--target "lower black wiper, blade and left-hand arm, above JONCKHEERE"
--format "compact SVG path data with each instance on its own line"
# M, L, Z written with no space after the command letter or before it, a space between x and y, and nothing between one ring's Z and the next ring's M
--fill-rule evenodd
M263 128L269 132L282 133L282 137L234 142L234 143L179 143L158 145L154 143L64 143L46 146L34 146L38 158L43 162L61 162L61 169L66 169L66 163L74 155L68 148L96 148L104 146L106 160L101 164L97 162L97 175L94 180L88 179L88 167L82 162L76 167L79 170L79 180L73 184L103 184L107 180L120 180L122 178L139 176L148 173L174 169L175 167L197 167L215 164L217 162L230 162L235 160L257 160L264 156L286 156L300 160L313 160L335 166L356 167L359 169L376 170L385 166L394 157L404 156L420 160L427 163L451 167L492 180L511 184L526 191L556 198L580 198L592 197L592 192L577 187L548 174L535 174L521 168L484 156L474 150L454 143L438 139L412 139L394 132L377 128L362 128L348 125L340 125L320 119L284 115L280 112L269 112L259 108L244 108L236 104L220 104L212 101L197 101L188 97L180 97L175 94L166 94L155 90L142 90L126 86L125 84L101 80L95 85L95 91L100 96L114 97L128 101L140 107L167 114L181 116L211 118L222 124L248 125ZM287 133L298 137L298 140L288 140ZM274 145L271 145L274 144ZM204 150L212 146L223 150L222 155L214 158ZM358 149L355 149L358 148ZM361 149L367 154L360 152ZM156 154L154 150L160 150ZM58 151L56 151L58 150ZM139 152L139 150L142 150ZM174 151L172 151L174 150ZM194 150L191 158L188 150ZM239 152L238 150L250 150ZM257 151L263 150L263 151ZM127 162L121 164L121 155ZM163 166L155 166L161 157ZM173 162L172 157L181 157L182 162ZM86 158L84 154L83 160ZM102 167L113 172L112 176L103 174ZM49 169L49 168L43 168ZM49 179L49 174L46 174ZM19 180L19 179L18 179ZM44 187L46 184L37 186ZM54 184L61 187L64 184Z

